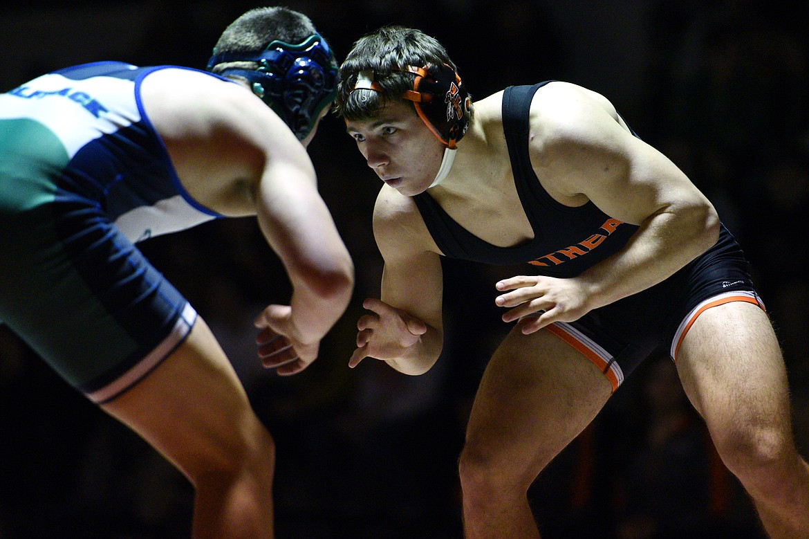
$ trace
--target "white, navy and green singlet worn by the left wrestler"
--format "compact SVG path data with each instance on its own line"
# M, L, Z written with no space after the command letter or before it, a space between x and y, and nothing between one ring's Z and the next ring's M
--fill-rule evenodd
M165 67L97 62L0 95L0 320L96 402L196 319L134 243L218 217L180 185L143 110L142 80Z

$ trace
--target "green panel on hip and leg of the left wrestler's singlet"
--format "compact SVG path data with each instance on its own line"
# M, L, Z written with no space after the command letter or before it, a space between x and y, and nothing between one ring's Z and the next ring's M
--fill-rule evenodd
M74 268L49 206L69 157L30 119L0 120L0 320L74 386L137 350ZM24 247L24 248L23 248Z

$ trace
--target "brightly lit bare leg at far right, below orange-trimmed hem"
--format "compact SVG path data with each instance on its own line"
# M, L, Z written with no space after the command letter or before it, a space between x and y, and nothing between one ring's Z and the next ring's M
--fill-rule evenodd
M734 302L694 322L677 357L685 393L770 537L809 537L809 467L795 448L786 369L764 311Z

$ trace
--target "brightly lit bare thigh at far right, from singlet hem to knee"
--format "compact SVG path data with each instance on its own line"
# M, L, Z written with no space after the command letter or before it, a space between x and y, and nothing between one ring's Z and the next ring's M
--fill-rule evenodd
M709 308L677 354L685 393L714 435L790 430L786 369L766 313L752 303Z

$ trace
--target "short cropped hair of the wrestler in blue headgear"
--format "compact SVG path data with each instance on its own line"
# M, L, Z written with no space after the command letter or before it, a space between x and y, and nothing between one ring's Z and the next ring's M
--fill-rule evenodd
M256 53L266 49L275 40L296 45L315 33L315 25L303 13L287 7L257 7L225 28L216 43L214 53ZM210 70L218 73L226 66L223 62L211 66ZM251 69L253 66L245 67Z

